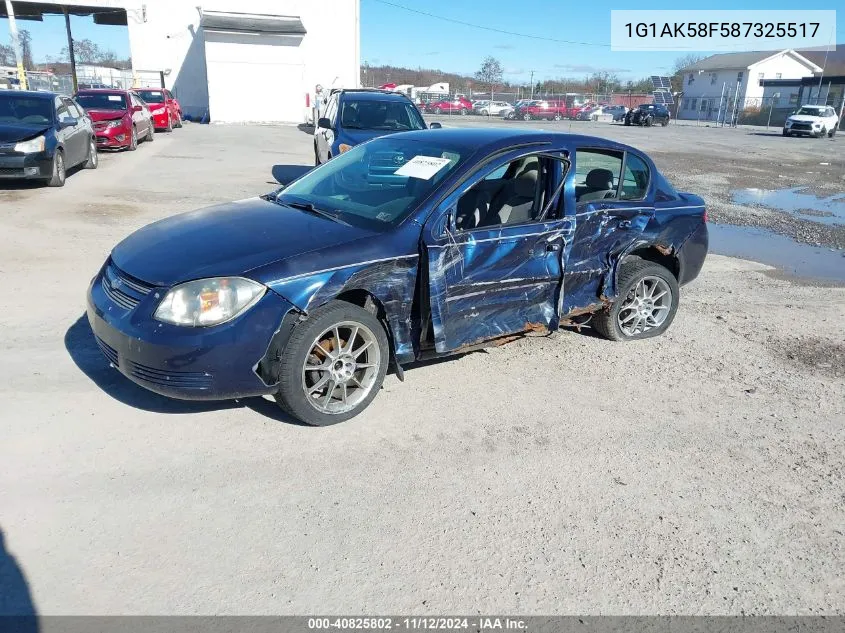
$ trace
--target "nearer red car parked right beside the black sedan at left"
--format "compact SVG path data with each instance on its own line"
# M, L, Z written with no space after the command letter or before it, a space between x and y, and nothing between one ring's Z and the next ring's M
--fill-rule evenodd
M98 148L134 151L139 139L155 138L153 115L131 90L80 90L76 101L91 117Z

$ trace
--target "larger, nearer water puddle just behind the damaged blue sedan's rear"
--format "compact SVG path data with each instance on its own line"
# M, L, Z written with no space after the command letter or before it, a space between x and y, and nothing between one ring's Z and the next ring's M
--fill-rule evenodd
M707 225L710 251L780 268L789 275L845 283L845 250L831 251L747 226Z

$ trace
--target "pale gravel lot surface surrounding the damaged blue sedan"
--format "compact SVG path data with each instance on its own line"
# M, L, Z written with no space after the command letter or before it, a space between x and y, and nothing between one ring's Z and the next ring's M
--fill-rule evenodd
M690 177L740 138L779 160L729 132L606 131L694 150ZM83 310L112 245L310 142L193 125L0 191L0 612L845 613L845 289L711 257L660 339L423 365L326 429L110 369Z

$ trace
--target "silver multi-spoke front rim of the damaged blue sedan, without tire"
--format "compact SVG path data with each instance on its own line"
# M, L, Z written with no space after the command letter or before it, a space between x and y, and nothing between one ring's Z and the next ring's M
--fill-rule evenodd
M354 409L372 391L381 350L370 329L355 321L337 323L311 344L302 366L302 389L321 413Z

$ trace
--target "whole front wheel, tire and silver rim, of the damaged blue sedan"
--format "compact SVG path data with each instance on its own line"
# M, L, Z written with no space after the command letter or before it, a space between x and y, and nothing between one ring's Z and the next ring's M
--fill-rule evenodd
M376 316L332 301L291 334L279 361L276 401L312 426L343 422L376 397L389 358L387 334Z

